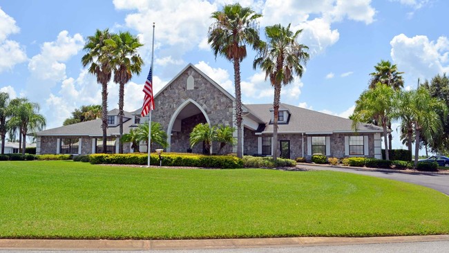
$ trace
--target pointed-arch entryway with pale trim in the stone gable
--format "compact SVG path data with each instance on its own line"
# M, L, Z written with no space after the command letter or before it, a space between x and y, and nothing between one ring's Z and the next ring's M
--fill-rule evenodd
M197 124L211 124L207 113L195 100L184 101L171 116L167 129L168 152L187 152L190 148L190 133ZM202 153L200 144L193 147L193 153Z

